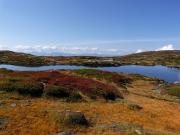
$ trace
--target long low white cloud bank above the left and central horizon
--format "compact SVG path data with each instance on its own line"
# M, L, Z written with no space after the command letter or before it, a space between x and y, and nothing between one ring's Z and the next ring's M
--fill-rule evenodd
M36 55L61 55L61 54L104 54L112 55L116 53L120 54L121 50L115 48L97 48L97 47L63 47L56 45L16 45L16 46L2 46L0 50L11 50L15 52L32 53Z

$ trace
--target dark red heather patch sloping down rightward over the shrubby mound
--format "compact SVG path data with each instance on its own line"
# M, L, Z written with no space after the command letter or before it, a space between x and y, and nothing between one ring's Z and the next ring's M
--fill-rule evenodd
M121 93L112 85L79 76L69 76L58 71L35 72L31 79L48 85L61 86L66 88L69 93L79 91L86 96L104 98L114 94L114 98L122 98Z

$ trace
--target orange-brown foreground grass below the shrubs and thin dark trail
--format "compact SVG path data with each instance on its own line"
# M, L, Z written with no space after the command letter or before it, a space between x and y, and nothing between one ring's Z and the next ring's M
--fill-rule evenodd
M0 116L7 117L9 121L5 125L5 130L1 132L3 135L49 135L60 131L71 131L77 135L117 135L132 133L136 129L141 132L144 131L141 128L139 129L139 127L157 131L159 134L178 135L180 133L180 115L178 111L180 106L177 103L158 101L140 96L129 96L128 100L136 101L143 106L143 109L139 112L128 109L126 102L68 103L40 98L21 98L20 100L9 98L9 100L5 100L5 97L11 97L10 93L6 94L6 96L0 96L0 99L5 104L5 107L0 109ZM10 107L12 103L16 103L17 107ZM87 120L91 122L91 126L84 128L61 124L61 117L56 112L64 110L82 112ZM60 124L58 124L59 122ZM102 125L112 125L113 123L118 123L118 130L116 128L97 128Z

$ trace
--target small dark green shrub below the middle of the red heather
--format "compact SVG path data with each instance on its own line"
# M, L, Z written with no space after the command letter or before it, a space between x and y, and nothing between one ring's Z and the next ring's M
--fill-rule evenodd
M44 90L46 97L65 98L69 97L69 92L66 88L56 85L50 85Z

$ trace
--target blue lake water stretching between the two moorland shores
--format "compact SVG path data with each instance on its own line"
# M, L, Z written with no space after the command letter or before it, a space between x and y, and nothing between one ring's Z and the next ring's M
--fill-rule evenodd
M40 66L40 67L24 67L14 65L0 65L0 68L6 68L17 71L44 71L44 70L57 70L57 69L85 69L90 67L84 66L69 66L69 65L55 65L55 66ZM138 66L127 65L119 67L98 67L105 71L124 72L130 74L141 74L149 77L156 77L165 80L168 83L180 82L180 69L169 68L166 66Z

